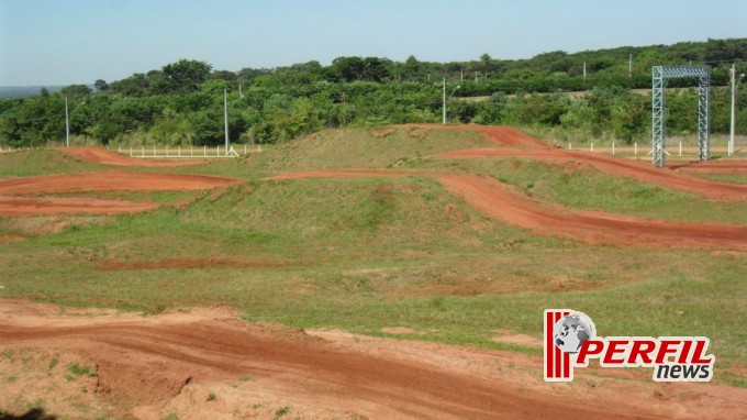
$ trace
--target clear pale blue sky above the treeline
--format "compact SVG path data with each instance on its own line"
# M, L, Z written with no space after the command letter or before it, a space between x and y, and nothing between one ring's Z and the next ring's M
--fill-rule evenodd
M180 58L239 70L746 36L744 0L0 0L0 86L113 81Z

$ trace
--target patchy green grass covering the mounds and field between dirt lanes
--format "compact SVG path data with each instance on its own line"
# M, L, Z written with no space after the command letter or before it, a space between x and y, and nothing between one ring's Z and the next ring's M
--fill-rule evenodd
M242 177L241 186L96 195L178 206L119 217L0 218L0 235L35 236L0 244L0 297L148 312L220 302L239 308L247 320L370 335L406 327L413 332L397 336L529 354L542 354L542 347L493 339L539 339L543 310L570 307L589 313L601 335L706 335L716 379L747 386L747 374L734 367L747 363L744 254L536 236L486 217L427 176L259 180L320 167L473 170L572 208L747 223L744 203L709 201L595 169L566 174L561 166L528 161L427 158L482 145L473 133L444 133L330 131L261 156L166 168ZM328 162L324 147L335 151ZM2 156L0 174L98 167L59 154ZM52 163L32 164L42 161ZM33 234L49 220L65 224ZM148 265L166 259L216 263Z

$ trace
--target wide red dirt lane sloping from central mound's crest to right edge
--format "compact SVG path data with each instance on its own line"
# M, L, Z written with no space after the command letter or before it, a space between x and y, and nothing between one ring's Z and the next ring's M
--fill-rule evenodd
M538 234L589 243L747 248L747 226L642 219L540 203L490 177L441 175L441 183L476 208Z

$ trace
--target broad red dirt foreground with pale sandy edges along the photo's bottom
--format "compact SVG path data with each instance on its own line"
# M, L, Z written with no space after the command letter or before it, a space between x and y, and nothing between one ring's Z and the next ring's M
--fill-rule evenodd
M257 417L261 412L256 407L263 406L257 401L274 405L264 417L287 406L293 417L302 418L746 413L744 389L695 384L632 387L629 380L615 378L604 378L604 387L595 387L587 385L581 373L573 384L558 387L542 383L538 357L394 340L346 340L324 332L311 336L303 330L243 322L234 313L193 309L152 317L91 311L64 316L49 305L0 300L0 345L81 355L97 368L94 393L116 405L121 415L137 418L169 412L180 418L236 412ZM502 367L506 361L523 369ZM250 379L239 382L243 377ZM661 401L665 398L668 401Z

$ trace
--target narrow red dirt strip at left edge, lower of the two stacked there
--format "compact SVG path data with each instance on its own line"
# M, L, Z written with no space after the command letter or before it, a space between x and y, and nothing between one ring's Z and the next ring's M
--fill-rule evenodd
M135 213L157 208L155 202L131 202L80 197L0 196L0 214L32 215L62 213L116 214Z

